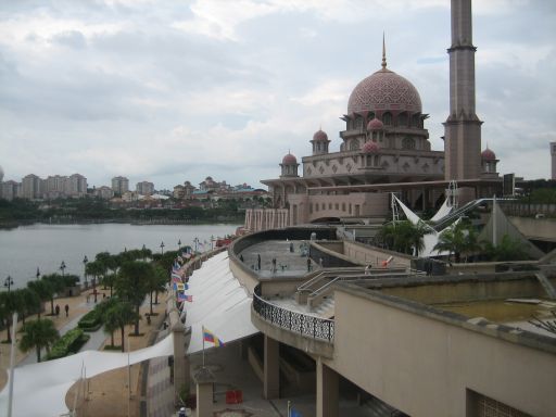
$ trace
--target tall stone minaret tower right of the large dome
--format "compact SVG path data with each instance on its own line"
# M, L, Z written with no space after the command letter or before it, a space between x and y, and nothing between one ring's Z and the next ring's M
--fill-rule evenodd
M481 176L481 124L475 113L475 51L471 0L452 0L450 54L450 115L444 123L444 177L446 180ZM462 190L463 191L463 190ZM475 198L472 189L464 200Z

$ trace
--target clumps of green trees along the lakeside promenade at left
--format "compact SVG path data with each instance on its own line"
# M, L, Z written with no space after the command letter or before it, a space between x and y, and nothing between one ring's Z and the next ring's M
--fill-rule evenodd
M139 308L146 296L150 295L149 314L153 314L153 304L157 303L159 293L165 290L176 256L177 251L153 254L143 248L118 254L101 252L96 255L94 261L86 264L86 282L87 277L91 277L94 303L99 294L98 286L110 290L110 296L98 304L98 309L105 331L112 334L112 345L113 332L121 329L122 351L125 350L124 328L127 325L135 325L132 336L139 336ZM5 341L12 342L11 317L13 313L17 313L23 324L20 349L27 352L35 348L37 361L40 362L41 349L48 354L60 338L53 321L41 317L41 313L46 311L45 304L50 304L50 315L54 316L54 299L78 281L79 277L75 275L51 274L29 281L26 288L1 292L0 323L7 330ZM35 320L27 320L35 314Z

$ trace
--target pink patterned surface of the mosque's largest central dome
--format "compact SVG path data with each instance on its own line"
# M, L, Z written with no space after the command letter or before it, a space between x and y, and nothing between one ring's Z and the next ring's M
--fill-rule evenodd
M357 84L348 102L348 114L377 110L420 113L421 99L412 83L382 68Z

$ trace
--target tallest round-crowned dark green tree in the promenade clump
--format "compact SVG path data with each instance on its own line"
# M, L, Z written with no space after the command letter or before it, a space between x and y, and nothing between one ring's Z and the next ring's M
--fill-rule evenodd
M154 268L146 262L126 262L119 268L115 281L116 294L129 301L136 307L135 336L139 334L139 307L149 293L149 281L154 275Z

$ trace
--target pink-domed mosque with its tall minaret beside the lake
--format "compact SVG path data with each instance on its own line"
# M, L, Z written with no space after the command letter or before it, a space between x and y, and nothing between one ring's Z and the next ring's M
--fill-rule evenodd
M448 49L451 104L443 151L431 149L419 92L388 67L382 40L381 67L350 94L340 150L331 151L328 135L319 129L309 141L312 154L301 160L301 173L298 159L285 155L280 176L261 181L273 207L248 210L245 228L383 218L392 192L412 208L433 208L447 197L451 182L457 184L453 192L460 203L498 192L498 160L489 148L481 153L471 35L470 24L463 25Z

